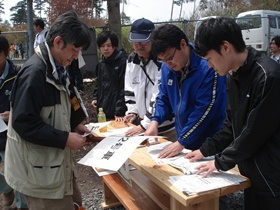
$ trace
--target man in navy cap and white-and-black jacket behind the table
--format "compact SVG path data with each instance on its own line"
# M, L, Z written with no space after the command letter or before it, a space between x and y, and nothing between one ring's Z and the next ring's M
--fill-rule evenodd
M125 101L127 106L126 122L135 126L126 132L127 136L144 133L150 124L152 106L158 94L161 78L161 62L151 53L151 33L155 25L141 18L132 24L128 40L133 43L134 52L130 54L125 73ZM176 141L174 115L166 116L159 127L160 135Z

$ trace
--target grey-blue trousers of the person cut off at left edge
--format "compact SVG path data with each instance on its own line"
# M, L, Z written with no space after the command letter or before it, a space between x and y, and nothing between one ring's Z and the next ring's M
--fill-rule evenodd
M0 162L4 161L5 151L0 151ZM4 174L0 173L0 192L8 193L12 188L7 184ZM17 208L28 208L25 201L24 195L20 192L15 191L16 206Z

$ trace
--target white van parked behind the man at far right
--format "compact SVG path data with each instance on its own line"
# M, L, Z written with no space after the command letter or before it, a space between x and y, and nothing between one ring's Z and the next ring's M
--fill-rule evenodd
M270 53L270 41L280 35L280 11L252 10L240 13L236 22L241 27L247 46Z

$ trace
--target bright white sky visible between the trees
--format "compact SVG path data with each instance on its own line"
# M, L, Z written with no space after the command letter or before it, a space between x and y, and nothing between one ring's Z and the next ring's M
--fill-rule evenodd
M17 4L18 0L5 0L4 11L5 14L1 17L3 20L10 20L10 8ZM127 4L124 5L124 12L131 18L133 22L139 18L146 18L152 22L169 21L171 18L171 8L173 0L127 0ZM197 1L199 2L199 1ZM198 3L195 4L195 7ZM103 7L106 9L106 2L103 3ZM193 11L194 3L184 3L182 9L182 16L189 17L190 11ZM122 11L123 5L120 5L120 11ZM105 13L103 14L105 16ZM174 5L173 7L173 20L179 18L180 6Z

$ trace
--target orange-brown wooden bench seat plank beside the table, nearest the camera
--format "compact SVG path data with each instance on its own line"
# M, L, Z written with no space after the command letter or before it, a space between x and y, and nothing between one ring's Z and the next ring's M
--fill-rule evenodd
M136 183L133 182L132 187L130 187L118 174L106 175L102 179L126 209L161 209ZM107 197L105 192L104 196Z

